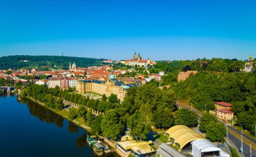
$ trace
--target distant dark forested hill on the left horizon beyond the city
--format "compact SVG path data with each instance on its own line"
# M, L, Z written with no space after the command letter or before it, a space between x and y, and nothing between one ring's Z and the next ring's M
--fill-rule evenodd
M63 68L67 69L69 63L75 64L80 67L95 66L102 64L103 59L96 58L81 58L71 56L2 56L0 57L0 69L7 70L9 68L35 68L40 70L48 70L49 68Z

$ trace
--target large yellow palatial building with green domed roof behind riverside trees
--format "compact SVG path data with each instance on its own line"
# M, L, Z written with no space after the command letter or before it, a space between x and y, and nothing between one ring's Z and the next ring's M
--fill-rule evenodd
M78 93L97 93L99 95L106 95L109 97L111 94L117 95L117 99L120 102L125 98L125 94L127 93L128 86L117 85L115 84L117 81L117 77L111 74L108 77L108 81L78 81L77 82L77 92Z

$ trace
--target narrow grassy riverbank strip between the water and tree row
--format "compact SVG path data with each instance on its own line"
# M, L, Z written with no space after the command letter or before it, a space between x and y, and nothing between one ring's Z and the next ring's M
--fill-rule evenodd
M52 108L47 107L46 105L44 105L44 103L42 103L40 101L36 101L32 97L26 97L26 99L29 99L30 101L34 101L38 105L41 105L41 106L45 107L46 109L49 109L49 110L53 111L54 113L57 113L58 115L61 115L61 117L67 119L68 121L71 121L71 122L75 123L76 125L78 125L79 127L82 127L83 129L86 129L86 131L91 132L91 128L86 125L86 123L84 122L84 119L80 118L80 119L71 120L68 116L69 111L67 111L65 109L62 109L62 110L52 109Z

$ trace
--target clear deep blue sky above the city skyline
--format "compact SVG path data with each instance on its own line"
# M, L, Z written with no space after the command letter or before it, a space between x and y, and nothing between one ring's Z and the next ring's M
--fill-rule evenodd
M1 0L0 56L256 56L256 1Z

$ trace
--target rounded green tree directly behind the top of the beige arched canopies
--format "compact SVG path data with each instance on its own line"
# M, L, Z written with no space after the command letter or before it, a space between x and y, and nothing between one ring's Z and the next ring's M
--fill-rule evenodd
M179 109L174 114L175 125L186 125L188 127L197 126L197 113L189 109Z

